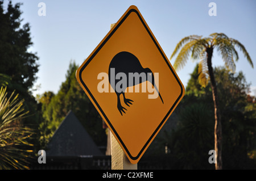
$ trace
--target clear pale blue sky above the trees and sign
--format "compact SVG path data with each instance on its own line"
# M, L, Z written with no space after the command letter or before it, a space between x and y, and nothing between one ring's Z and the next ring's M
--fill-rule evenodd
M256 1L63 1L63 0L20 0L23 23L30 23L34 45L29 49L39 56L38 80L35 85L44 91L57 93L71 60L81 65L110 30L110 24L117 22L130 5L138 7L160 46L170 58L176 44L185 36L208 36L223 32L245 45L256 69ZM39 2L46 4L46 16L39 16ZM209 16L210 2L217 5L217 16ZM8 1L5 1L5 7ZM240 59L236 71L243 71L247 82L256 94L256 71L251 68L238 50ZM174 60L171 60L171 64ZM196 62L188 61L177 71L181 82L187 85ZM213 66L224 65L215 52Z

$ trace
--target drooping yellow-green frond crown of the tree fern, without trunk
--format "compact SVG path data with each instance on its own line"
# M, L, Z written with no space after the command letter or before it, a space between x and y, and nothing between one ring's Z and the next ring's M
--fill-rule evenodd
M240 48L243 52L249 64L253 67L253 62L249 56L249 53L246 51L245 47L237 40L230 39L224 33L212 33L209 37L201 38L201 36L191 35L184 37L176 45L174 52L171 55L170 60L175 56L177 52L179 54L176 57L174 62L174 68L179 70L187 63L189 54L193 60L201 58L201 53L206 51L208 48L217 49L217 52L221 54L222 60L225 63L226 68L229 71L234 72L236 70L235 61L238 60L239 56L235 46ZM201 62L203 66L203 62ZM202 80L204 79L204 74L201 74ZM204 85L204 83L203 83Z

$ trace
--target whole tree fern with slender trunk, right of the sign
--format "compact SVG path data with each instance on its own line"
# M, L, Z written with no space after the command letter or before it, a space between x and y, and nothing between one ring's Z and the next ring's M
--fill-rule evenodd
M191 54L192 60L200 60L198 69L200 85L205 87L210 79L215 109L214 148L216 149L217 154L216 169L222 169L222 133L220 110L218 108L217 85L212 68L213 49L217 49L217 52L221 55L226 69L234 72L236 70L235 62L239 58L235 47L240 48L249 64L253 67L253 62L251 61L249 53L246 51L245 47L239 41L229 38L224 33L212 33L209 37L205 37L203 39L201 36L197 35L184 37L176 45L175 50L171 55L171 58L173 58L180 50L174 62L174 68L179 70L187 63L189 54Z

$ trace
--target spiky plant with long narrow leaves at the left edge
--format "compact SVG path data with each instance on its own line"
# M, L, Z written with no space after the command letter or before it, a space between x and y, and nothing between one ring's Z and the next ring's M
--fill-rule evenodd
M24 100L14 92L8 96L6 88L0 90L0 169L28 169L32 157L32 129L24 127L27 115Z

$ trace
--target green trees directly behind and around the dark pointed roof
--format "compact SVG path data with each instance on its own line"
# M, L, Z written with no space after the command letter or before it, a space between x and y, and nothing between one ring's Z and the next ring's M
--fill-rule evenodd
M44 118L40 124L41 141L44 142L44 145L47 144L69 110L75 113L97 145L106 144L106 134L102 129L101 116L77 82L75 76L77 68L75 62L71 62L66 80L61 84L57 94L45 92L39 98Z

